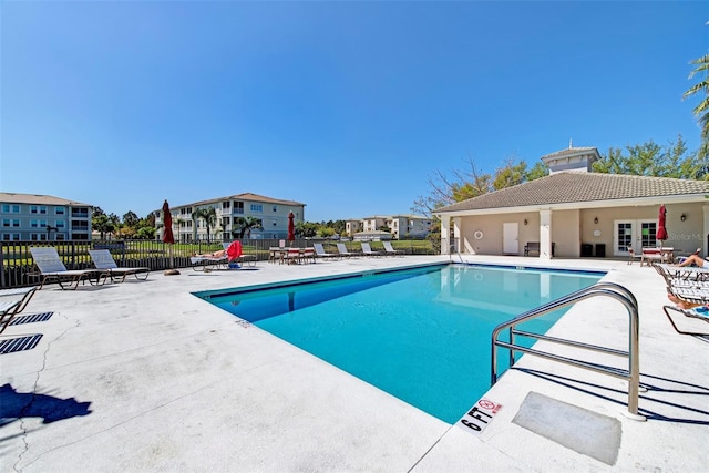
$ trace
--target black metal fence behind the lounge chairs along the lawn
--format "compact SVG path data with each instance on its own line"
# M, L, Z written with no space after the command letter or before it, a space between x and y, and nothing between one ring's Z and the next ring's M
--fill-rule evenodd
M245 255L256 256L257 261L268 260L269 248L280 246L278 239L243 239ZM287 241L287 246L305 248L314 243L321 243L328 253L337 253L333 240L297 239ZM349 250L358 251L358 241L345 243ZM434 248L425 240L394 240L395 249L408 255L433 255ZM155 240L73 240L73 241L0 241L0 288L33 286L40 284L39 271L34 267L30 247L53 246L56 248L66 269L89 269L93 267L90 249L109 249L113 259L123 267L148 267L161 271L168 268L186 268L192 266L189 257L223 248L222 241L194 241L166 245ZM381 249L379 241L371 243L372 249Z

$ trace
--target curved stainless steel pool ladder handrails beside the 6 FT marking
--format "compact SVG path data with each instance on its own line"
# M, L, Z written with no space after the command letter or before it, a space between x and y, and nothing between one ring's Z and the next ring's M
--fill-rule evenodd
M599 347L556 337L548 337L541 333L531 333L516 328L518 323L596 296L606 296L616 299L620 301L620 304L623 304L627 309L630 323L628 351L616 350L613 348ZM537 357L546 358L548 360L558 361L579 368L585 368L590 371L596 371L628 381L628 411L627 413L625 413L625 415L634 420L644 421L645 417L638 414L638 391L640 384L640 362L638 359L638 302L635 299L635 296L633 296L633 292L620 285L617 285L615 282L597 282L590 287L577 290L576 292L572 292L568 296L564 296L559 299L547 302L544 306L537 307L536 309L526 311L515 317L514 319L500 323L497 327L495 327L492 332L492 384L497 382L497 347L506 348L510 350L510 368L514 366L515 351L521 351L524 353L534 354ZM502 333L502 331L505 329L508 329L510 331L510 342L499 340L500 333ZM628 358L628 369L624 370L619 368L590 363L586 361L575 360L573 358L548 353L546 351L541 351L533 348L523 347L515 343L515 336L535 338L537 340L545 340L553 343L561 343L592 351L599 351L603 353L626 357Z

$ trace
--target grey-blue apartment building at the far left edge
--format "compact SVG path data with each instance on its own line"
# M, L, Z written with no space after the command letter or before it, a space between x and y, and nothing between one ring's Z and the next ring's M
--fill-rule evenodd
M0 193L0 239L89 240L92 214L92 205L51 195Z

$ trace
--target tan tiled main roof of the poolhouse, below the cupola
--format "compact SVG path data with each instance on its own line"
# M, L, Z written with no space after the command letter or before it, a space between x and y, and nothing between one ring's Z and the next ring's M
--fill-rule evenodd
M435 213L709 194L709 181L557 173L442 207Z

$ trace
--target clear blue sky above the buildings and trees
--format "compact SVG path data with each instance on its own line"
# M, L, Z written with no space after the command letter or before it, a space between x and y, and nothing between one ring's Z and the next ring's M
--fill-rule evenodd
M0 191L140 217L251 192L409 213L436 171L699 146L706 2L0 6Z

